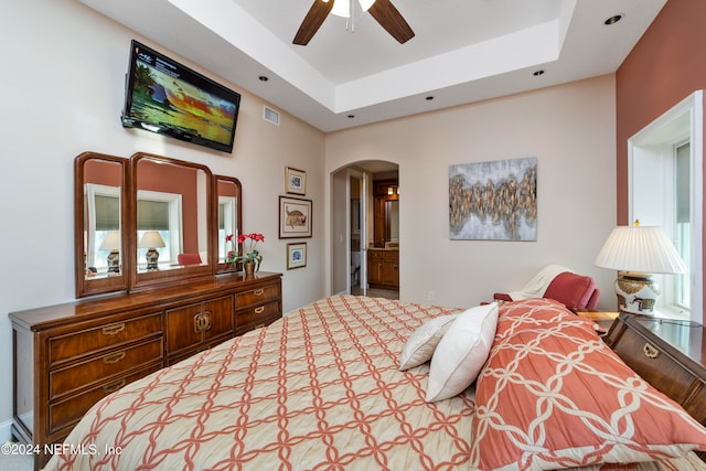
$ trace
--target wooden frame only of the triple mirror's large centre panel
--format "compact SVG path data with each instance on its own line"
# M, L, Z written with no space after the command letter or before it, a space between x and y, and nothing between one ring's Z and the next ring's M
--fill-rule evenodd
M204 184L205 184L205 217L206 217L206 235L205 240L208 244L205 253L208 257L206 263L203 265L190 265L184 266L179 269L173 270L157 270L157 271L148 271L148 272L138 272L137 269L137 201L138 201L138 171L139 163L142 160L151 160L156 162L161 162L170 165L179 165L186 167L194 170L201 170L204 172ZM130 289L133 291L138 291L141 289L147 289L164 283L176 283L176 282L190 282L194 281L194 279L199 278L211 278L214 275L213 268L213 174L211 170L202 164L188 162L183 160L172 159L169 157L157 156L152 153L146 152L137 152L130 157L130 180L129 180L129 220L132 222L133 226L130 227L130 236L128 237L128 254L130 257L131 269L129 271L130 275ZM135 236L132 236L135 234Z

